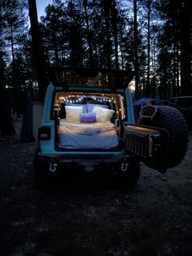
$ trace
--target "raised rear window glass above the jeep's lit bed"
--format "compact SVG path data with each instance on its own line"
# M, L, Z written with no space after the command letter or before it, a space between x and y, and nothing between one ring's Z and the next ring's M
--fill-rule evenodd
M115 92L125 89L132 81L132 70L117 70L89 67L50 67L50 81L63 90L74 87L108 89Z

